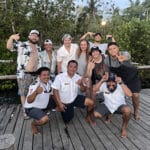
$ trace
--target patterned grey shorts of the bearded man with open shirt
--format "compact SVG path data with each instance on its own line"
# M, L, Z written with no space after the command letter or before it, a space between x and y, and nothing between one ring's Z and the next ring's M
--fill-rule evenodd
M36 79L36 76L33 76L31 74L26 74L26 73L24 74L23 79L17 79L20 96L27 96L29 86L32 84L32 82L35 79Z

